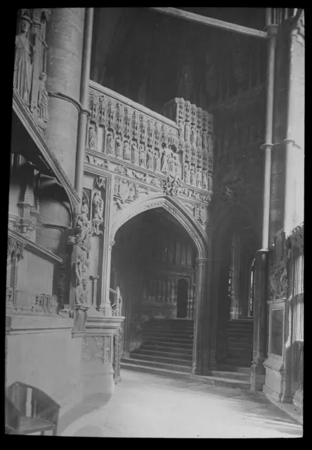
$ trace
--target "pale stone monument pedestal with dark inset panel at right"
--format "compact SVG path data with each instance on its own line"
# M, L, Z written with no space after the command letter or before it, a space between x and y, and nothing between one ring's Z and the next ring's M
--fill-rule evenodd
M268 302L268 359L264 362L266 383L263 391L277 401L282 397L285 383L285 303L285 298Z

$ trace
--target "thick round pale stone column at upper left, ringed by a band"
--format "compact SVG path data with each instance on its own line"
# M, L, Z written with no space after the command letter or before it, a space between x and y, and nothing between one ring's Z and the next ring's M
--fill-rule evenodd
M46 140L74 186L85 8L52 8L47 25Z

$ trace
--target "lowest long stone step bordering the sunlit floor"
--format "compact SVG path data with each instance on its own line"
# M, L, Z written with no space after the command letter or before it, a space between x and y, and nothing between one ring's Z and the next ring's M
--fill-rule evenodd
M250 383L245 380L236 380L233 378L192 375L183 371L174 371L164 368L156 368L150 366L131 364L129 361L122 361L121 368L129 371L138 371L144 373L152 373L154 375L166 376L168 378L183 378L184 380L206 383L207 385L230 387L234 389L249 390Z

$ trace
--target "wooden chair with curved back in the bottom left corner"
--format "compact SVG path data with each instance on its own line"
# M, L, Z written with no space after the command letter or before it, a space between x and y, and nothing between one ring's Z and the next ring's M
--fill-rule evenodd
M56 436L59 412L60 405L37 387L15 382L6 390L6 434Z

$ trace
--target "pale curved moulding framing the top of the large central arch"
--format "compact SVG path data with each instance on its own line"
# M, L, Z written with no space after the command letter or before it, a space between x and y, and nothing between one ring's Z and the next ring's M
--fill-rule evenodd
M181 202L176 200L176 198L169 197L168 195L157 195L153 198L141 200L138 203L131 203L125 207L124 210L117 212L117 214L115 214L112 218L112 224L110 227L110 241L114 240L117 230L125 224L126 221L129 221L132 217L141 214L141 212L159 207L164 208L164 210L167 210L170 214L172 214L187 231L197 249L197 258L206 259L210 254L207 235L202 231L202 229L200 229L200 226L197 225L193 216L188 213Z

